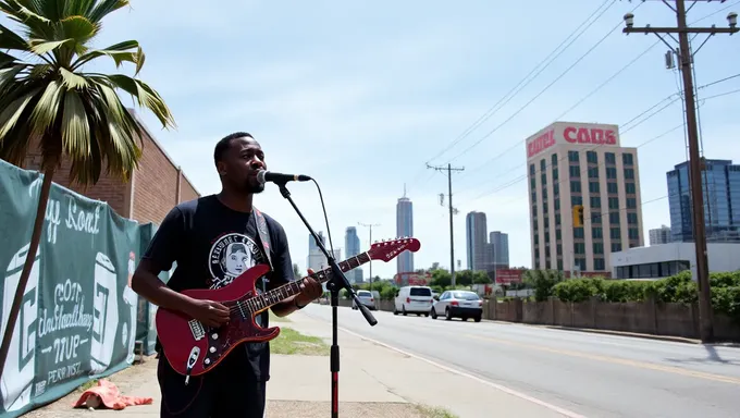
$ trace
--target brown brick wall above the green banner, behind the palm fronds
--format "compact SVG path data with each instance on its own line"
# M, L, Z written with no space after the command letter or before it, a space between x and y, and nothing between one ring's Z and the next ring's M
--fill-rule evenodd
M132 113L137 118L135 112ZM140 120L139 123L144 126ZM103 169L100 180L92 186L83 188L77 184L70 184L70 161L63 158L61 170L54 174L54 183L91 199L106 201L124 218L134 219L139 223L159 224L173 206L198 198L200 194L146 127L145 132L139 167L131 182L123 183L109 177ZM32 144L22 168L39 170L40 165L41 152L38 144Z

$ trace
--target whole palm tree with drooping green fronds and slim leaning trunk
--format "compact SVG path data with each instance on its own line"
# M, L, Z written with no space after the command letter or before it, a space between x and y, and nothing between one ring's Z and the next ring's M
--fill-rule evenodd
M151 110L163 127L175 126L160 95L134 78L145 58L137 41L90 48L101 21L126 5L128 0L0 0L0 11L20 25L22 34L0 25L0 158L21 165L29 145L38 142L44 173L30 248L0 347L0 374L62 157L71 161L72 183L95 184L103 164L109 174L130 179L141 155L137 140L143 128L116 89ZM83 71L102 57L113 59L116 67L133 63L134 77Z

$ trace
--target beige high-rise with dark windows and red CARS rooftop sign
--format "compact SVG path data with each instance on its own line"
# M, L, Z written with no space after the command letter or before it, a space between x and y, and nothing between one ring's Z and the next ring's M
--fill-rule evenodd
M607 273L609 253L644 245L637 148L617 125L555 122L527 138L527 165L533 269Z

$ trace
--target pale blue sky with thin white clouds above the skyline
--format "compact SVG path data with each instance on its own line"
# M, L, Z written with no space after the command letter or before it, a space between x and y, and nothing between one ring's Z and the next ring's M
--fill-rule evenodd
M508 234L510 265L530 267L523 140L555 120L618 124L622 146L648 142L638 149L643 202L665 196L666 172L687 159L682 128L651 140L682 123L681 101L643 113L679 91L678 74L664 64L668 46L621 33L624 14L636 7L636 26L674 26L661 1L218 3L132 0L103 21L96 46L141 44L140 78L163 96L177 128L163 131L140 114L201 195L220 190L215 143L249 132L270 170L318 181L343 257L347 226L357 226L368 248L369 230L358 222L379 224L373 241L396 236L396 201L406 187L421 241L415 268L448 268L447 200L443 207L439 196L447 193L446 173L427 163L452 163L465 169L453 174L455 259L466 268L465 216L474 210L486 213L489 231ZM726 27L730 11L740 12L740 1L698 2L688 21ZM556 48L560 53L551 56ZM696 85L740 73L738 52L740 35L710 39L694 58ZM542 71L525 81L535 69ZM740 77L699 90L706 158L740 162L740 94L710 98L738 89ZM316 186L288 187L325 234ZM284 226L293 260L305 269L308 231L278 187L269 184L255 205ZM649 229L669 224L668 200L644 204L642 214L648 243ZM373 275L395 272L395 260L373 262Z

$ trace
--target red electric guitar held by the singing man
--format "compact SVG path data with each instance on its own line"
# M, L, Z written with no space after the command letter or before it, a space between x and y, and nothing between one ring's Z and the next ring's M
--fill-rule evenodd
M367 253L344 260L338 266L342 272L346 272L370 260L387 262L404 250L416 253L420 247L421 243L417 238L383 241L373 244ZM270 266L257 265L224 287L183 292L193 298L218 302L230 308L231 321L218 329L203 325L180 311L157 309L157 333L165 357L174 370L186 376L186 382L190 376L208 372L237 345L267 342L280 334L278 327L259 327L255 322L255 316L300 293L301 281L258 294L255 283L269 271ZM331 268L311 274L321 283L328 282L331 275Z

